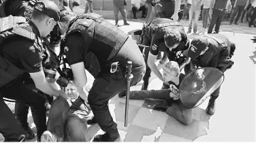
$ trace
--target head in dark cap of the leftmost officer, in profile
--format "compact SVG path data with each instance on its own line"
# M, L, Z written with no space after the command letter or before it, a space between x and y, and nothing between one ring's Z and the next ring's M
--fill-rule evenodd
M37 1L31 21L36 24L41 36L46 37L56 24L60 26L60 9L53 1Z

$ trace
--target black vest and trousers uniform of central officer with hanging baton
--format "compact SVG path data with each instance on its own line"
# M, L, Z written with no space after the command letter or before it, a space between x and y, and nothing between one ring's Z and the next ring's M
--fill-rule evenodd
M132 61L134 77L131 86L142 79L145 69L143 55L127 34L95 13L78 16L69 28L65 37L68 64L84 62L85 69L95 77L88 101L95 122L107 132L107 137L101 141L114 141L119 133L108 110L108 101L127 87L124 78L127 61ZM114 62L119 62L119 70L110 73Z

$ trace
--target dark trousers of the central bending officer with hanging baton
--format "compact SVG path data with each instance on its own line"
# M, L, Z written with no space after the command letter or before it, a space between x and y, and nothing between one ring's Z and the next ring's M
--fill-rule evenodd
M95 122L100 125L101 129L105 131L110 138L115 138L118 137L119 133L117 123L113 121L110 114L108 101L110 98L117 95L117 93L127 88L127 81L124 75L122 75L127 61L132 61L133 63L132 74L134 77L131 81L131 86L136 85L142 79L145 63L142 53L139 51L139 47L131 38L128 38L127 42L124 43L121 50L112 61L119 61L120 67L123 67L123 70L119 70L113 74L100 73L99 76L95 78L89 92L88 101L92 108L92 113L95 115ZM110 71L110 69L107 69L107 71Z

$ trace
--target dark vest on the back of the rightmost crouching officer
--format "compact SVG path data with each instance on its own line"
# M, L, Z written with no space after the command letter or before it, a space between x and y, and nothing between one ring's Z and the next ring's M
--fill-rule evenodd
M201 67L216 67L218 59L220 58L217 55L219 55L223 50L228 50L230 52L230 40L220 34L208 34L203 36L205 36L209 41L209 49L204 55L202 55L199 64Z

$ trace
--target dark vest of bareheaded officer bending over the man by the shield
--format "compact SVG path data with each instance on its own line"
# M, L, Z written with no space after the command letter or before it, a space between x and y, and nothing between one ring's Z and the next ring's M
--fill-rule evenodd
M150 38L152 33L156 34L156 38L159 40L159 42L164 42L164 34L166 31L168 31L170 28L176 29L181 33L181 42L174 49L174 52L178 52L181 50L188 49L188 38L185 33L185 29L181 23L178 23L176 21L172 21L168 18L157 18L154 21L151 21L151 23L146 26L145 32L146 35Z

